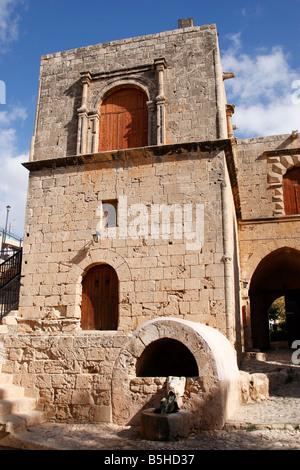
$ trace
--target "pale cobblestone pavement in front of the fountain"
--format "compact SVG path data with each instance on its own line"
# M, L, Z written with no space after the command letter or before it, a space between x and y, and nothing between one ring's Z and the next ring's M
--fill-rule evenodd
M58 450L300 450L300 366L291 364L291 355L291 350L275 350L268 353L267 362L253 359L243 362L241 368L253 372L292 367L292 375L271 393L269 400L241 407L222 431L192 433L186 439L172 442L153 442L141 439L137 428L46 423L31 427L27 437L36 443L36 449L41 444Z

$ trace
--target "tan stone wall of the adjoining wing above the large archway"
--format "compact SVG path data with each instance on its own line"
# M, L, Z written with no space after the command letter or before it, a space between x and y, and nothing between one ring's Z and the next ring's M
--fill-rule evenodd
M242 220L239 251L243 327L251 349L249 288L259 263L279 249L299 250L300 217L284 212L282 177L300 165L299 137L278 135L237 141L236 165Z

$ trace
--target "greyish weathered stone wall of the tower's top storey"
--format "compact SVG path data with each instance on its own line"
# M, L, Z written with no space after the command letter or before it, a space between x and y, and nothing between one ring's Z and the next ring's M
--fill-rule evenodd
M162 90L157 65L161 58ZM152 122L149 145L226 137L217 31L215 25L199 26L43 56L33 160L77 154L83 72L88 72L83 114L96 116L99 103L114 86L135 84L145 90ZM163 142L156 137L158 103L165 109Z

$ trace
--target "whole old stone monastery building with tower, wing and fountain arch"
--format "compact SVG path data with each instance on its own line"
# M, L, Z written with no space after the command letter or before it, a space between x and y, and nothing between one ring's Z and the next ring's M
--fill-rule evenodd
M299 137L236 139L233 76L215 25L191 20L42 57L1 340L2 372L49 419L135 422L175 375L196 425L222 426L279 295L300 337Z

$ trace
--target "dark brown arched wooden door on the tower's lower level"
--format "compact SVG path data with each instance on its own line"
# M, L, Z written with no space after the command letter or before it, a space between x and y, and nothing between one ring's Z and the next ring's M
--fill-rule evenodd
M118 277L115 270L107 264L94 266L83 278L81 328L118 328Z

